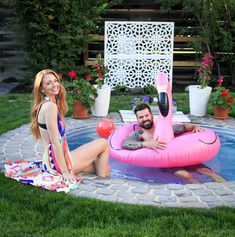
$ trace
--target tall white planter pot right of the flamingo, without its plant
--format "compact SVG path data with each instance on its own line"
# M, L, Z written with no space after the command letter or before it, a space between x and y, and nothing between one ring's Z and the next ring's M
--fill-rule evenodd
M189 108L190 114L205 116L212 88L210 86L200 88L199 85L189 86Z

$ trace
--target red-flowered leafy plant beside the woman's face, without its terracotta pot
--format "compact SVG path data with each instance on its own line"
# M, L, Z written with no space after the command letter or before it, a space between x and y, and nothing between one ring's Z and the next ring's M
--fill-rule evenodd
M67 92L72 95L73 102L81 101L83 106L90 108L95 103L97 91L89 82L91 77L86 72L70 71L66 78L62 80Z

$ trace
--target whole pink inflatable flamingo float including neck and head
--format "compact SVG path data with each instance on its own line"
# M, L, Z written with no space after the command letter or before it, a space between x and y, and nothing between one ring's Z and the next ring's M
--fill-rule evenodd
M154 121L153 138L165 142L167 147L161 149L140 148L122 149L123 140L136 129L136 123L124 124L109 137L110 156L118 161L145 167L170 168L190 166L208 161L217 155L220 140L209 128L202 132L185 132L174 137L172 128L172 95L166 73L158 73L156 87L159 95L159 116Z

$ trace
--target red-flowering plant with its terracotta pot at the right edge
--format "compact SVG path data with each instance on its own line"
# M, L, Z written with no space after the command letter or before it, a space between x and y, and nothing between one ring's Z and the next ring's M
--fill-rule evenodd
M227 119L228 111L232 108L233 97L224 86L222 86L223 77L220 76L215 92L212 93L209 105L213 108L214 118Z

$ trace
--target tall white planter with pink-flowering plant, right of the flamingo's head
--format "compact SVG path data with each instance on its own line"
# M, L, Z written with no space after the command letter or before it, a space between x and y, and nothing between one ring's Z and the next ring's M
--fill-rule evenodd
M213 57L206 53L202 57L202 62L197 70L199 85L189 86L189 108L190 114L195 116L205 116L207 113L208 101L210 99L212 87L208 86L213 69Z

